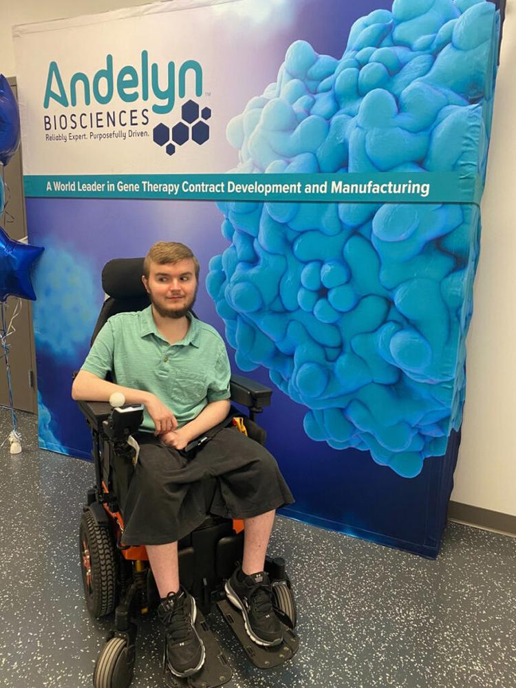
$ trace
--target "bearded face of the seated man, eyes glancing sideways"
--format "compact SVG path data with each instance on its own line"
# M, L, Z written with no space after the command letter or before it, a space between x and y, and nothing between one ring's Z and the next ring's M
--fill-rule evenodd
M151 303L164 318L182 318L197 295L197 278L191 258L160 265L151 261L149 279L142 277Z

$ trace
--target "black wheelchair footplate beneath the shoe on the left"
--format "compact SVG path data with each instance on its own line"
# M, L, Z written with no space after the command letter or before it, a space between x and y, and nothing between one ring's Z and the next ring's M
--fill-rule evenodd
M165 685L169 688L217 688L226 685L226 688L235 688L231 680L233 670L231 669L217 638L213 635L208 622L204 619L202 612L197 608L197 619L195 619L195 629L204 643L206 658L202 669L188 678L174 676L166 662L166 643L163 651L163 674Z

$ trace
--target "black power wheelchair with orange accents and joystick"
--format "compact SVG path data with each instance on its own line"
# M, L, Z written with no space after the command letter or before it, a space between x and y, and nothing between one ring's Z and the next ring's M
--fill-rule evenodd
M98 316L92 343L111 315L142 310L149 305L144 290L142 258L115 259L105 265L102 274L107 299ZM266 432L255 422L258 413L270 405L272 390L242 376L230 380L231 401L244 406L244 415L233 421L252 439L264 444ZM96 484L87 491L87 502L80 519L79 550L85 599L89 612L97 619L114 614L114 629L109 632L94 670L94 688L127 688L133 676L136 659L136 620L155 608L159 602L149 560L144 546L120 544L123 517L119 504L127 491L133 471L135 449L131 434L142 422L143 409L111 408L107 402L79 401L92 432L92 458ZM242 427L243 426L243 427ZM202 438L201 438L202 440ZM215 688L233 686L231 667L213 635L205 615L215 608L224 616L241 643L249 660L257 667L270 669L292 658L299 647L294 631L297 612L292 587L281 557L266 560L274 593L275 612L285 626L284 642L278 647L260 647L248 638L239 612L228 603L224 580L230 577L235 563L241 561L244 525L208 514L215 491L215 479L206 480L206 520L179 544L180 581L193 594L197 603L195 625L206 648L201 671L189 678L173 676L163 659L164 682L170 688Z

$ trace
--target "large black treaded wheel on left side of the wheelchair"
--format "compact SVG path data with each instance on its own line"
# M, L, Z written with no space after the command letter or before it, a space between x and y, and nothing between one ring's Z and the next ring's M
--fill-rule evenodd
M115 608L116 559L109 529L89 510L80 518L79 550L87 607L100 619Z

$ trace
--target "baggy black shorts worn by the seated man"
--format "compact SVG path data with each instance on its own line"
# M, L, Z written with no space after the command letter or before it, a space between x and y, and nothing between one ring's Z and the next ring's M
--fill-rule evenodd
M292 504L275 458L234 427L225 427L187 460L151 433L135 436L140 456L121 504L123 545L162 545L189 535L208 513L250 518ZM206 505L206 479L215 493Z

